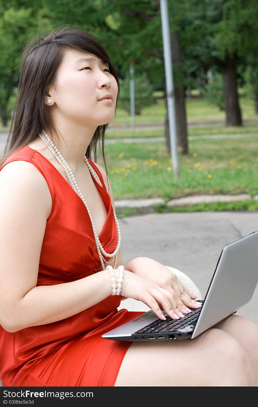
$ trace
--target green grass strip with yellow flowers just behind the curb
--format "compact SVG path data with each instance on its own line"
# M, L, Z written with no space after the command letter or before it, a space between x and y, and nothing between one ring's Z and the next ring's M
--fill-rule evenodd
M164 142L106 145L105 156L114 199L200 194L258 194L258 139L189 141L189 154L179 154L174 179ZM100 152L98 164L104 167Z

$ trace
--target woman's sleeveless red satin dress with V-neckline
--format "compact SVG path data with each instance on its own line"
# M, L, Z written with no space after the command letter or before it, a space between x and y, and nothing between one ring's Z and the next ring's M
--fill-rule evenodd
M35 165L46 179L52 197L37 286L70 282L98 272L100 260L82 199L57 168L27 144L13 153L0 171L5 164L16 160ZM108 211L99 239L106 252L112 253L117 245L117 230L111 200L99 169L88 160L101 180L102 187L93 178ZM143 313L118 311L120 302L120 295L110 295L71 317L14 333L0 326L3 385L113 386L132 342L104 339L101 335Z

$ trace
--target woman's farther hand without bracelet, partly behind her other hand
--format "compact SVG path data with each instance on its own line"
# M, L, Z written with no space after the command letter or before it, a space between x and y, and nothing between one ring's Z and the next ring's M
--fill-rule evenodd
M187 307L192 309L199 308L198 304L201 303L194 301L196 296L193 295L190 290L187 289L187 287L185 287L183 282L176 276L175 273L163 266L163 264L158 263L157 261L148 257L137 257L131 260L131 263L134 274L154 282L155 284L159 285L160 288L167 290L170 294L175 296L178 304L178 309L175 312L178 314L178 316L180 316L180 311L181 313L185 314ZM190 311L191 310L188 308L187 312Z

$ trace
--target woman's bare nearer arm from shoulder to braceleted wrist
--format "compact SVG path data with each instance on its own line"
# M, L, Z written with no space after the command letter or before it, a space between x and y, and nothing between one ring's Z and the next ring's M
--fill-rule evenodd
M5 330L15 332L59 321L111 294L106 270L68 283L36 287L51 208L49 188L33 164L15 161L0 171L0 191L0 324ZM130 262L126 267L131 271ZM117 270L115 274L118 277Z

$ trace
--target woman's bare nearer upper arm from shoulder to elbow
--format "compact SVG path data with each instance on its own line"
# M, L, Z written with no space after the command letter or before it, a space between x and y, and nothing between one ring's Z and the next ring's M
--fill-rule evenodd
M17 307L37 284L49 215L50 192L45 183L27 161L9 162L0 171L0 325L8 332L22 329Z

